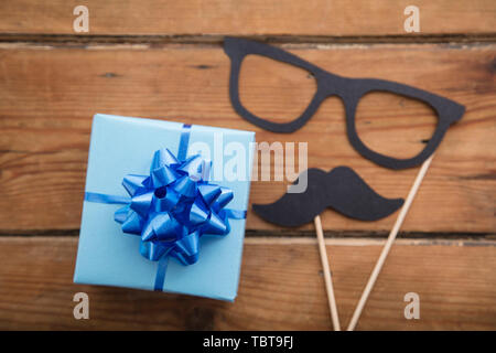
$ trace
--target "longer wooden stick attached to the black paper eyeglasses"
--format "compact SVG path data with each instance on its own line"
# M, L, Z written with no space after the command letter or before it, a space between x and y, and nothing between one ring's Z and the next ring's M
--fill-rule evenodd
M413 185L411 186L410 192L408 193L407 201L405 202L405 205L401 207L398 218L396 220L395 226L392 227L391 233L389 233L386 245L382 248L382 253L380 253L376 267L374 267L370 278L368 279L367 286L365 287L364 292L362 293L362 298L358 301L358 304L356 306L355 312L353 313L352 320L349 321L347 331L353 331L356 324L358 323L362 310L364 310L368 296L370 295L370 291L373 290L374 285L376 284L377 277L379 276L379 272L382 269L382 265L386 261L386 257L388 256L392 243L395 242L396 236L398 235L398 231L400 229L401 224L405 221L408 210L410 210L411 203L417 194L417 191L419 190L420 184L422 183L423 176L425 176L425 173L429 169L429 165L431 164L433 157L434 154L432 154L429 159L427 159L422 163L422 167L420 168L420 171L417 174L416 181L413 182Z

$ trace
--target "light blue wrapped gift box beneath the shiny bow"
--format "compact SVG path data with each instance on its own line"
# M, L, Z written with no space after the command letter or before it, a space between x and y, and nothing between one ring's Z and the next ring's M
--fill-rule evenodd
M175 156L200 153L212 160L211 182L233 191L234 199L226 207L239 214L248 206L254 142L251 131L97 114L85 192L128 196L123 176L150 174L153 153L166 148ZM225 236L202 236L195 264L185 266L169 257L164 269L163 259L152 261L140 254L139 235L122 232L115 221L120 207L85 197L75 282L157 290L158 276L164 271L163 291L235 299L245 236L242 217L228 220L230 231Z

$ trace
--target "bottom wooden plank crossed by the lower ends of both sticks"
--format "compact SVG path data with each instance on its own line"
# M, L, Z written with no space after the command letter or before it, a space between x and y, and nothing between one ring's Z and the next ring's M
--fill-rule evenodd
M382 242L327 242L345 325ZM0 238L2 330L331 329L313 239L247 239L235 303L74 285L76 244L75 237ZM495 330L495 246L494 242L399 240L357 329ZM73 296L79 291L89 296L89 320L73 318ZM420 296L420 320L405 319L407 292Z

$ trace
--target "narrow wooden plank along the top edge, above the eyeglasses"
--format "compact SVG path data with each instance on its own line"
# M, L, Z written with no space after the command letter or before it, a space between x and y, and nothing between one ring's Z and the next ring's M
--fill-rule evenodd
M3 0L2 33L73 31L77 1ZM87 0L89 34L409 35L403 11L411 1L97 1ZM494 33L492 0L417 0L420 33Z

